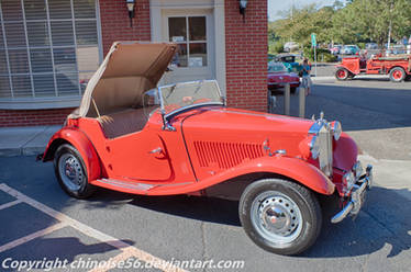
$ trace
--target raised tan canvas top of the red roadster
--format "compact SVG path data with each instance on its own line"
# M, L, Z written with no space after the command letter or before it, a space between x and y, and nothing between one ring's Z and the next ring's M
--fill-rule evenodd
M175 52L174 44L115 42L88 82L80 107L69 117L142 106L144 92L157 86Z

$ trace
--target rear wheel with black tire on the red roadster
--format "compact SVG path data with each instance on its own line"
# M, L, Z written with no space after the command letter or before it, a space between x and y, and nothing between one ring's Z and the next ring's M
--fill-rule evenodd
M88 183L87 168L81 155L71 145L64 144L57 148L54 155L54 171L58 183L68 195L87 199L93 193L95 186Z

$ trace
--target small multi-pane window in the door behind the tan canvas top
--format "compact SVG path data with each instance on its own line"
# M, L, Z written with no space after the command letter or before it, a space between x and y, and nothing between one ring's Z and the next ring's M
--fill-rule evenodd
M169 41L178 45L171 65L177 67L207 67L206 16L168 18Z

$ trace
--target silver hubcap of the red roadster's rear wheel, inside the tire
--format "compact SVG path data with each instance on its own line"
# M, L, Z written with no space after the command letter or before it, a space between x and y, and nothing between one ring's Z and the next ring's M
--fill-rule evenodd
M81 188L85 174L80 161L71 154L64 154L58 159L58 171L64 184L71 191Z

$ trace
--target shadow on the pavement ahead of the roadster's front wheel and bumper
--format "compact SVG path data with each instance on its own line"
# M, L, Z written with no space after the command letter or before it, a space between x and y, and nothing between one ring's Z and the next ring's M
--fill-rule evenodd
M407 197L406 197L407 196ZM355 220L332 224L324 217L315 245L301 257L356 257L379 251L388 245L387 258L411 249L411 192L408 189L373 188Z

